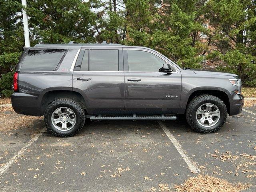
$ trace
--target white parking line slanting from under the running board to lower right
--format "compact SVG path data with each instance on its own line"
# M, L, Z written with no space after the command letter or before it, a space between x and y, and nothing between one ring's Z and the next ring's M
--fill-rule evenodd
M182 149L180 143L176 140L176 138L172 135L172 133L168 130L168 128L164 125L163 122L158 121L159 125L164 130L165 134L168 136L168 138L171 140L174 147L177 149L177 151L180 153L188 167L190 168L192 173L199 173L200 170L192 163L191 159L185 154L185 151Z

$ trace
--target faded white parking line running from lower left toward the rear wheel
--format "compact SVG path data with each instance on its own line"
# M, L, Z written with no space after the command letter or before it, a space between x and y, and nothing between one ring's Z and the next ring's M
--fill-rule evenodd
M45 131L45 127L40 133L36 134L24 147L22 147L4 166L0 168L0 176L6 172L6 170L24 153L24 151L30 147Z

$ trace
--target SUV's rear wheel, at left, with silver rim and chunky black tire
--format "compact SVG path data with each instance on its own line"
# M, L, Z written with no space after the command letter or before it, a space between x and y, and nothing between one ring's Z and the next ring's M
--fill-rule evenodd
M55 100L46 108L44 122L47 130L55 136L73 136L84 126L84 108L72 99Z

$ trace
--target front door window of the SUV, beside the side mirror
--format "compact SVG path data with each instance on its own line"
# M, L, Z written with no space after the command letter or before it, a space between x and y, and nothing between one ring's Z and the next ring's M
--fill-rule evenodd
M127 50L129 71L158 72L165 63L160 57L146 51Z

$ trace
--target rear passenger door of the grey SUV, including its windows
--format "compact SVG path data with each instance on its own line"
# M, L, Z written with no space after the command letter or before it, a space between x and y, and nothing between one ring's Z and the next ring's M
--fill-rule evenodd
M82 48L73 72L73 90L82 90L88 114L124 112L122 48Z

